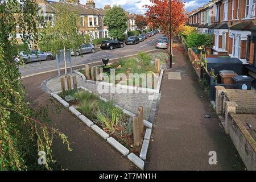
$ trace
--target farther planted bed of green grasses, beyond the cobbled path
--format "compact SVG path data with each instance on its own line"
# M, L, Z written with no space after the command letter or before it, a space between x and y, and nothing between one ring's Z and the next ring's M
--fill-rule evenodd
M149 54L139 52L137 57L119 59L118 62L109 64L108 60L106 60L105 65L92 67L91 69L80 69L79 72L84 74L87 80L111 82L112 79L110 76L112 70L115 76L114 84L154 89L158 81L158 79L155 79L158 78L156 74L159 74L161 69L160 64L166 63L167 60L167 53L158 52ZM104 73L104 78L97 78L98 70L100 70L99 73ZM139 76L139 81L136 80L137 76Z

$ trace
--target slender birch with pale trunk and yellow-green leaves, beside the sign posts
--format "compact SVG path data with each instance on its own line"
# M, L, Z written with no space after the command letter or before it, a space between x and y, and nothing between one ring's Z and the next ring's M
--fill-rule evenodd
M55 7L55 21L53 26L47 24L42 32L41 44L47 46L53 53L64 51L65 77L67 77L66 50L74 51L86 42L85 36L79 34L79 15L69 11L68 3L57 3Z

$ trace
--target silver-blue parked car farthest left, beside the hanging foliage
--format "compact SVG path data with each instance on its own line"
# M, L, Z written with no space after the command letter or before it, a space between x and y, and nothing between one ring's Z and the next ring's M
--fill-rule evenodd
M55 56L51 52L43 51L21 51L19 55L23 58L24 63L34 62L34 61L43 61L43 60L52 60ZM15 61L20 61L18 57L15 58Z

